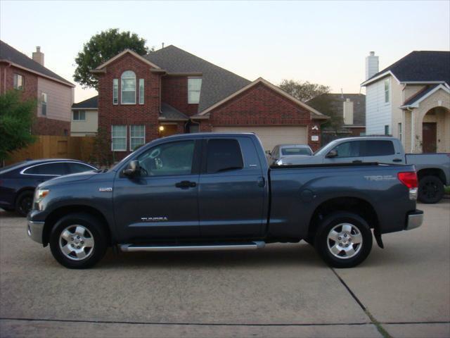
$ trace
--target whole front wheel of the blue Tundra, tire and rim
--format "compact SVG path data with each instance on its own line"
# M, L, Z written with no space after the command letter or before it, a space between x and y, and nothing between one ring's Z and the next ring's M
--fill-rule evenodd
M51 230L50 249L56 261L66 268L91 268L105 256L106 238L96 218L72 213L61 218Z

